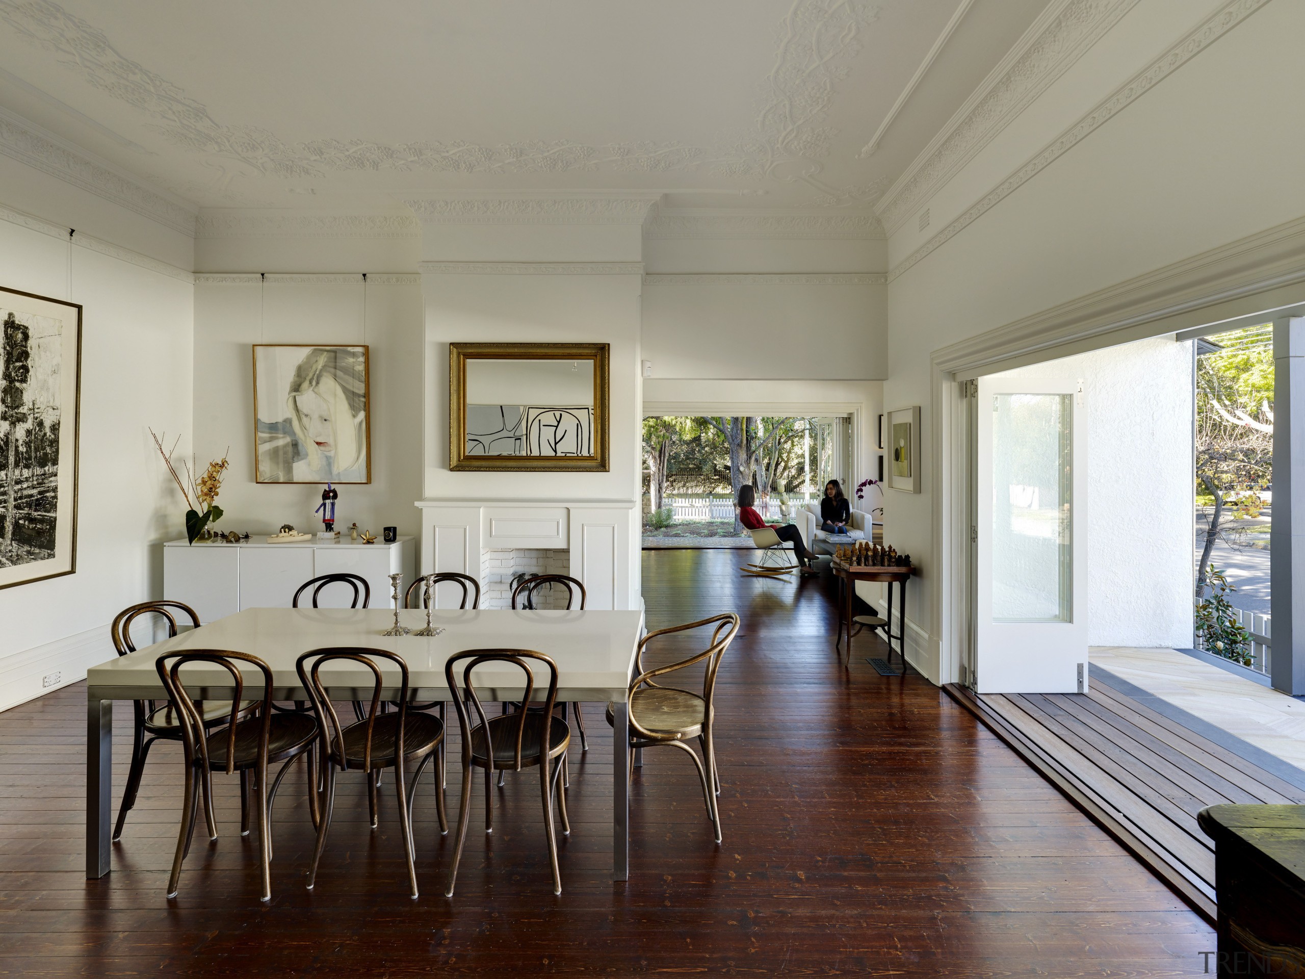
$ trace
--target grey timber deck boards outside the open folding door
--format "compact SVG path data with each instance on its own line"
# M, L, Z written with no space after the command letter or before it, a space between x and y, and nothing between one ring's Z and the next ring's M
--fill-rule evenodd
M1295 786L1104 684L1087 694L947 691L1207 918L1214 843L1197 813L1305 803Z

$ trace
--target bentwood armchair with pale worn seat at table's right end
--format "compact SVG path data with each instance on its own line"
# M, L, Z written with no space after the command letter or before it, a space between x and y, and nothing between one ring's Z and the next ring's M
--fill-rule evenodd
M649 644L660 637L677 632L697 629L703 625L715 624L711 633L711 644L702 653L696 653L688 659L681 659L668 666L659 666L652 670L643 668L643 654ZM716 796L720 794L720 775L716 769L716 748L713 740L715 722L715 691L716 671L720 668L720 658L739 632L739 616L733 612L714 615L710 619L688 623L685 625L672 625L667 629L655 629L639 640L638 651L634 657L634 670L637 676L630 683L630 743L629 751L633 754L642 748L656 748L663 744L672 745L685 752L693 758L698 769L698 778L702 781L702 798L707 804L707 816L716 830L716 842L720 842L720 807ZM666 676L677 670L684 670L696 663L706 660L706 674L702 681L702 693L681 691L675 687L663 687L654 683L652 677ZM607 723L612 723L613 705L607 705ZM693 748L686 741L698 739L702 748L702 757L706 765L698 758ZM633 765L630 765L633 769Z

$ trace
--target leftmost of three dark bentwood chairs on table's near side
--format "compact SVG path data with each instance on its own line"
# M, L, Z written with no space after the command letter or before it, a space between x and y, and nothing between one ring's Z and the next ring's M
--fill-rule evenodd
M189 663L205 663L209 674L226 671L235 688L227 726L211 734L204 726L202 717L185 689L181 667ZM244 693L244 676L236 663L248 663L262 674L261 696L256 710L244 715L239 709ZM258 805L258 856L262 863L262 899L271 901L271 805L277 788L295 758L305 754L316 743L317 721L311 714L278 714L271 709L271 668L248 653L228 650L188 650L185 653L164 653L154 662L163 688L167 691L172 710L180 721L181 747L185 753L185 801L181 805L181 831L176 841L176 855L172 858L172 876L168 877L167 895L176 897L177 881L181 877L181 862L191 851L191 838L194 835L194 822L200 803L200 786L204 788L205 815L209 825L213 818L211 773L223 771L228 775L240 774L240 795L247 799L252 788ZM191 671L188 671L189 674ZM211 676L206 677L213 683ZM284 762L275 781L270 782L270 765ZM313 779L309 779L312 785ZM317 800L309 792L309 811L313 822L318 822ZM214 839L217 835L214 834Z

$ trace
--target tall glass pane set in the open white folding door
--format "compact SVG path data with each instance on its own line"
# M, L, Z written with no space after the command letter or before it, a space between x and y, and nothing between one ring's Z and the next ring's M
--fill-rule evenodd
M992 617L1071 621L1067 394L994 394Z

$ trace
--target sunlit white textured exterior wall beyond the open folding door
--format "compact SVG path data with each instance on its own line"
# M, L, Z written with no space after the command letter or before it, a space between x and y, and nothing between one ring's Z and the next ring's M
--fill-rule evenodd
M1191 645L1191 347L1155 337L992 375L1083 382L1087 501L1077 520L1091 646Z

